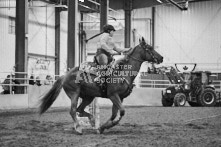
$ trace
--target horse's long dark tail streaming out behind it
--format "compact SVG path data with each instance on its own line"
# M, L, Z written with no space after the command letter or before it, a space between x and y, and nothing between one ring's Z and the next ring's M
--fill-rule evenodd
M39 107L39 114L43 114L48 108L53 104L53 102L58 97L63 84L64 76L59 77L59 79L54 83L53 87L46 93L46 95L41 99L41 105Z

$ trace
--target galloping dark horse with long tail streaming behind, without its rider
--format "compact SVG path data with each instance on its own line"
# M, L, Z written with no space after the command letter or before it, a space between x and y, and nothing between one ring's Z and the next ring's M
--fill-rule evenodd
M52 88L43 96L39 106L40 115L53 104L63 88L71 100L70 115L74 122L74 130L77 134L82 134L82 126L80 126L76 115L88 117L91 124L94 125L93 115L85 112L84 109L95 97L107 98L113 103L112 115L98 128L98 133L102 134L105 129L117 125L125 115L123 100L131 93L133 81L140 70L141 64L145 61L160 64L163 62L163 57L142 38L139 45L131 48L123 59L117 60L115 68L110 72L111 74L106 76L105 93L93 81L96 76L87 74L88 77L85 78L85 73L80 71L79 67L72 68L64 76L59 77ZM78 106L79 97L82 98L82 102ZM120 116L115 120L118 111Z

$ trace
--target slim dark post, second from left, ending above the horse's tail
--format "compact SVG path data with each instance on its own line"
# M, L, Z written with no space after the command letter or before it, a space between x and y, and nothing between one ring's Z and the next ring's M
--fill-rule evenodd
M60 12L60 8L55 8L55 75L60 75Z

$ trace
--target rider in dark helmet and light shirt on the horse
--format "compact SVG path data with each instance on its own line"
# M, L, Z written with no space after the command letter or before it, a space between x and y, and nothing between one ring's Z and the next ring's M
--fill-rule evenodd
M118 47L114 40L113 35L115 32L115 28L112 25L104 25L103 27L103 34L101 35L99 42L98 42L98 49L95 56L95 59L99 65L108 65L113 61L114 51L118 53L122 53L128 51L129 48L120 48ZM102 68L105 66L102 66ZM101 71L106 71L106 68L100 69ZM101 76L95 78L97 81Z

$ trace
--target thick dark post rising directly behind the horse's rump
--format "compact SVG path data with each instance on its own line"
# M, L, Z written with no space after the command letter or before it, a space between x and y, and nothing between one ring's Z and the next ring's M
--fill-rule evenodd
M78 50L78 1L68 0L68 51L67 51L67 69L77 65Z

